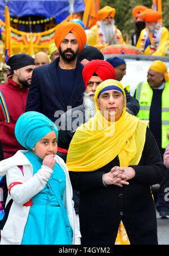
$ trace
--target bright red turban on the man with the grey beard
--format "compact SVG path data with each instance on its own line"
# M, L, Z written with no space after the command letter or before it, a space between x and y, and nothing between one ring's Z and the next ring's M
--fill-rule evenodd
M87 83L94 73L96 73L103 81L107 79L115 79L114 67L112 67L109 62L103 61L102 59L93 59L84 66L82 72L85 87L87 87Z

